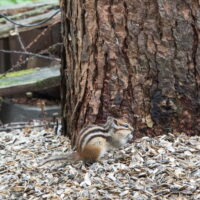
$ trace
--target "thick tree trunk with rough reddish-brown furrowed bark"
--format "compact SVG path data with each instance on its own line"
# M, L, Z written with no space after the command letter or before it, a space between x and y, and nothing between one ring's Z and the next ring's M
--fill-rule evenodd
M108 115L200 132L200 1L61 0L67 135Z

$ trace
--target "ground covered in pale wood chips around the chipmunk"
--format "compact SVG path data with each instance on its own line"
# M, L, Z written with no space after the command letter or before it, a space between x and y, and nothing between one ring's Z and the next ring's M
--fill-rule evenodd
M39 166L68 151L50 128L1 131L0 199L200 199L199 136L143 137L90 166Z

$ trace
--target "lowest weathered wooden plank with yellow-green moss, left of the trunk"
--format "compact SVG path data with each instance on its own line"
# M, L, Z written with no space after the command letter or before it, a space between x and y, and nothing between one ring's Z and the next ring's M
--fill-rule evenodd
M34 68L0 75L0 96L39 91L60 85L60 66Z

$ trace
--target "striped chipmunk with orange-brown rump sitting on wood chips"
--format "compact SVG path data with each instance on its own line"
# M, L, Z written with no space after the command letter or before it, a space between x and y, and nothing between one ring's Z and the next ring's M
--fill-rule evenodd
M74 152L45 160L42 165L50 161L67 160L77 162L95 162L109 149L120 147L133 138L133 127L120 119L108 117L104 125L89 125L81 129L74 142Z

